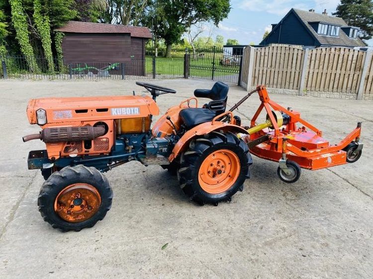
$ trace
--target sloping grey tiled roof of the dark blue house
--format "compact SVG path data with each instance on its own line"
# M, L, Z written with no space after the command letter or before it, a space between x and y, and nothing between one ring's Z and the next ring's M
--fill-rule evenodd
M300 20L303 21L307 29L312 35L320 42L321 45L330 46L353 46L353 47L364 47L365 44L359 38L349 38L346 33L342 30L339 31L338 37L323 36L317 34L315 29L309 24L309 22L323 22L339 26L347 26L347 23L340 17L330 16L326 14L320 14L310 11L304 11L299 9L293 9L294 12L299 16Z

